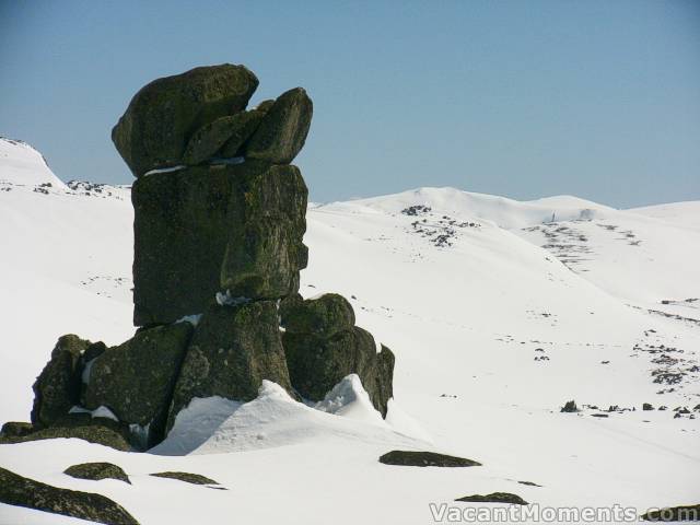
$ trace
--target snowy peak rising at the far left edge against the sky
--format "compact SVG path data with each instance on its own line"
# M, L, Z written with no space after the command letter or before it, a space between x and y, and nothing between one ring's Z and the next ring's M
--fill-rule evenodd
M0 137L0 185L68 189L37 150L21 140Z

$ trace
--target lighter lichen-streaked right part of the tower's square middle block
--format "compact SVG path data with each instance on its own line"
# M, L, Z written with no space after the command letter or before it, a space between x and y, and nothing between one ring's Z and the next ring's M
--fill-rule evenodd
M308 190L296 166L271 166L250 175L232 195L230 213L241 219L231 229L221 266L221 288L234 296L280 299L299 290L306 267Z

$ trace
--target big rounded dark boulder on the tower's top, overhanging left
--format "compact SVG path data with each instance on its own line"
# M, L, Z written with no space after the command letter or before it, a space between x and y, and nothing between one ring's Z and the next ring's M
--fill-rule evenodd
M209 66L143 86L112 130L135 176L176 166L195 131L245 109L258 79L245 66Z

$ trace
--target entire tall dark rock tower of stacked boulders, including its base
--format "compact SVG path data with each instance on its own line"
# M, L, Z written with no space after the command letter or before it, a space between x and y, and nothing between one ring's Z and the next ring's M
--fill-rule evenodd
M8 424L0 442L51 435L47 428L60 423L61 435L108 443L104 435L124 434L144 448L195 397L247 401L269 380L318 400L352 373L386 416L394 354L377 352L340 295L298 293L307 189L290 163L306 140L312 101L295 88L246 109L257 85L244 66L222 65L135 95L112 138L137 177L139 328L113 348L61 338L34 386L33 427ZM71 413L69 424L69 411L118 421L85 425L86 415Z

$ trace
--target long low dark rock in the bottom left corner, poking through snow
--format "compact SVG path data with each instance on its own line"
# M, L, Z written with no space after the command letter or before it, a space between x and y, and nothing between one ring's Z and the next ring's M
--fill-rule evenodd
M102 494L59 489L0 468L0 503L107 525L138 525L122 506Z

